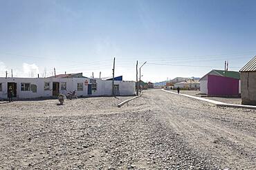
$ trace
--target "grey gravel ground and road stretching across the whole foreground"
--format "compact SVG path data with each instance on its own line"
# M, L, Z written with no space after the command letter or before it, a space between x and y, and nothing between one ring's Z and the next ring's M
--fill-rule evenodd
M256 111L127 98L0 103L0 169L256 169Z

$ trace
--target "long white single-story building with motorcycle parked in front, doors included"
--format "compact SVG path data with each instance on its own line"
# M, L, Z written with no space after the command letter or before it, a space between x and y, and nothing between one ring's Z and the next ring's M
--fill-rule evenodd
M73 91L76 91L77 96L111 96L112 94L112 81L84 76L0 77L0 98L8 98L9 87L12 87L15 98L44 98L57 96L57 94L66 95ZM133 96L136 94L135 82L114 81L114 92L116 96Z

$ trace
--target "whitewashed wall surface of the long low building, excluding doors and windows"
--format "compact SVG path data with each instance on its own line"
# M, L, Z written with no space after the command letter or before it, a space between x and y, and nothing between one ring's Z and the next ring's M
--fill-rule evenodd
M88 85L90 79L96 80L97 90L92 90L92 94L88 94ZM44 90L44 83L50 82L50 90ZM66 82L66 90L61 90L61 94L76 91L77 96L111 96L112 81L103 81L100 78L0 78L2 83L2 91L0 98L8 98L8 83L17 83L17 98L40 98L53 96L53 82ZM21 83L30 83L37 85L37 92L21 91ZM83 90L77 91L77 83L83 83ZM135 82L133 81L115 81L115 85L119 85L120 96L133 96L136 93Z

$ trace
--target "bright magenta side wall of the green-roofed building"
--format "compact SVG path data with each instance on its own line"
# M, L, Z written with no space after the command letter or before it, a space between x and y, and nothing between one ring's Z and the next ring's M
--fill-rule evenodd
M208 96L238 96L239 80L208 75Z

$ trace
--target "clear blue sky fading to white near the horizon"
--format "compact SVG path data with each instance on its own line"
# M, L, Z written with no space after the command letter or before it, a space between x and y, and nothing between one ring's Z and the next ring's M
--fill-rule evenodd
M256 55L256 1L0 0L0 76L83 72L143 81L238 71Z

